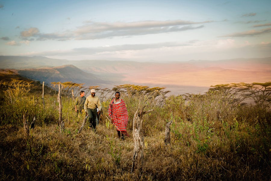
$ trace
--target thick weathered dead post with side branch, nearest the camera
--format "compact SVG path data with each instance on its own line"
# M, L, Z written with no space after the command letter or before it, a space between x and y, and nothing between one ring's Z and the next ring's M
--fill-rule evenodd
M145 106L138 108L133 118L133 139L134 139L134 155L131 173L135 173L139 177L142 171L142 161L144 155L144 141L143 141L143 115L153 110L143 111Z

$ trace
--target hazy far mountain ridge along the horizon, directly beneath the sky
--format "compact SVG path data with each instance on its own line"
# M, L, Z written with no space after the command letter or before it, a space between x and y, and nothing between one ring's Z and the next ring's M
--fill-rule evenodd
M48 68L58 67L62 65L74 65L86 72L110 72L119 73L120 70L129 71L131 69L138 69L146 65L179 65L178 67L220 67L224 69L254 69L255 67L270 68L271 57L267 58L253 58L253 59L229 59L229 60L190 60L187 62L134 62L134 61L108 61L108 60L63 60L50 59L42 56L0 56L0 67L10 69L27 69L27 68Z

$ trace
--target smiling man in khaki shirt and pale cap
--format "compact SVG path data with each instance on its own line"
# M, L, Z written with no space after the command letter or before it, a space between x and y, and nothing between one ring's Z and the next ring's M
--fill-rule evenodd
M101 102L99 97L95 97L95 89L90 90L91 95L86 98L84 104L84 110L88 113L88 121L89 126L92 127L94 131L96 131L96 116L101 113ZM97 112L98 108L98 112Z

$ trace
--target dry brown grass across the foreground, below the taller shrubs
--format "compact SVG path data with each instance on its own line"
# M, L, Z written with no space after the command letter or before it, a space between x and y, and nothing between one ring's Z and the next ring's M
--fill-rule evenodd
M1 177L4 180L134 180L132 136L121 141L104 120L97 132L85 128L77 134L81 121L65 119L64 134L56 124L37 126L25 139L22 127L1 126ZM131 121L131 119L130 119ZM130 122L131 124L131 122ZM164 123L163 123L164 124ZM195 126L185 122L181 137L172 134L172 144L164 146L164 130L145 133L144 159L140 180L269 180L270 153L259 148L261 138L242 125L228 136L213 135L207 148L199 147ZM146 128L145 128L146 129ZM148 130L150 131L150 130ZM251 131L251 130L250 130ZM129 128L129 133L132 130ZM192 132L192 133L191 133ZM235 135L236 134L236 135ZM262 133L258 133L262 134ZM240 138L238 138L240 137ZM268 137L267 137L268 138ZM201 136L200 136L201 139ZM202 140L204 141L204 140ZM270 140L267 140L270 143ZM257 143L258 142L258 143ZM264 145L263 145L264 147Z

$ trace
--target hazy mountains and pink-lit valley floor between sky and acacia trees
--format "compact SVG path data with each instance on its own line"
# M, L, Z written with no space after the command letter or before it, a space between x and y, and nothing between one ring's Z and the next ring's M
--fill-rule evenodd
M137 84L167 87L172 94L203 93L217 84L271 81L271 57L156 63L0 56L0 67L47 84L72 81L107 88Z

